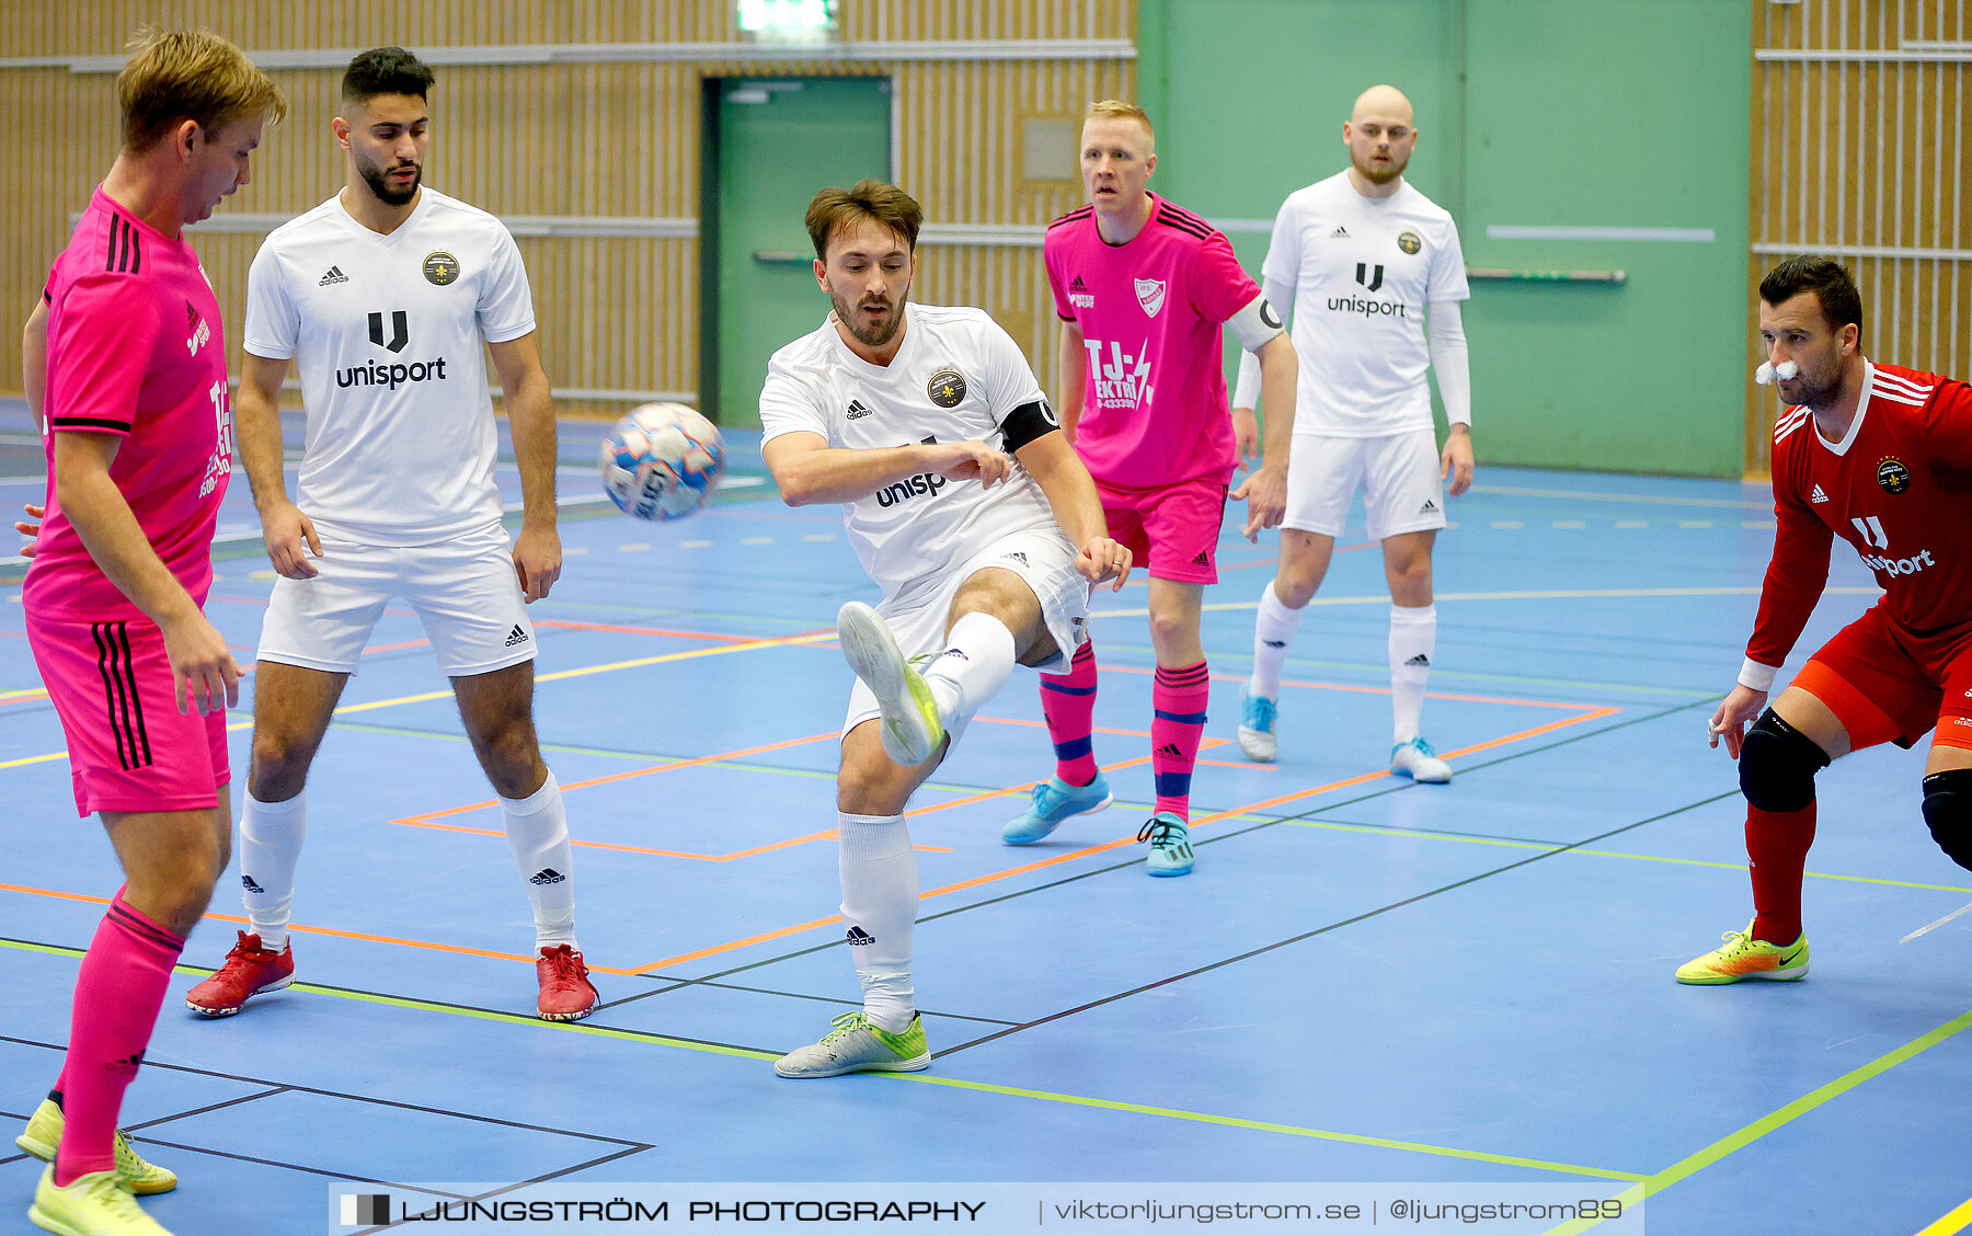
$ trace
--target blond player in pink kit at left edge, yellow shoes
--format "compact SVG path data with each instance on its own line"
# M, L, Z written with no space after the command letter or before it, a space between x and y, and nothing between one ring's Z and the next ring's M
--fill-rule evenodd
M75 806L128 883L75 978L61 1078L18 1137L53 1159L28 1218L164 1232L134 1193L177 1183L116 1130L185 934L231 850L227 704L241 666L205 621L233 471L225 327L181 237L250 179L274 85L211 34L144 34L116 79L124 146L24 331L43 394L47 511L22 587Z

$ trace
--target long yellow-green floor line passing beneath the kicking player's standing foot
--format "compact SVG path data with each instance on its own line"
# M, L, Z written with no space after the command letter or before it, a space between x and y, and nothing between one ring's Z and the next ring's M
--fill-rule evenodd
M0 938L0 946L14 948L20 952L43 952L51 956L81 958L81 948L67 948L59 944L34 944L28 940L8 940ZM174 966L174 972L185 976L205 978L211 970L203 966ZM682 1047L686 1051L700 1051L718 1057L738 1057L747 1061L777 1061L781 1053L773 1051L753 1051L749 1047L726 1047L720 1043L696 1043L690 1039L669 1039L665 1035L655 1035L649 1031L623 1031L605 1025L588 1025L582 1021L542 1021L540 1017L528 1017L525 1013L501 1013L497 1009L471 1009L454 1003L436 1003L430 999L414 999L406 996L379 996L375 992L349 992L345 988L317 988L314 984L292 984L290 992L304 992L308 996L333 996L337 999L357 999L363 1003L377 1003L396 1009L410 1009L418 1013L450 1013L454 1017L475 1017L479 1021L499 1021L505 1025L523 1025L530 1029L546 1031L568 1031L574 1035L592 1035L598 1039L617 1039L625 1043L651 1043L657 1047ZM1972 1017L1972 1013L1968 1013ZM933 1076L925 1072L889 1072L880 1074L901 1082L917 1082L923 1086L947 1086L952 1090L972 1090L978 1094L1004 1094L1008 1098L1031 1098L1039 1102L1071 1104L1079 1108L1100 1108L1106 1112L1130 1112L1136 1116L1160 1116L1163 1120L1189 1120L1193 1124L1215 1124L1221 1128L1252 1130L1258 1133L1286 1133L1290 1137L1315 1137L1321 1141L1347 1141L1351 1145L1371 1145L1376 1149L1398 1149L1420 1155L1438 1155L1444 1159L1473 1159L1479 1163L1501 1163L1505 1167L1528 1167L1534 1171L1556 1171L1578 1177L1593 1177L1597 1181L1643 1181L1635 1171L1607 1171L1601 1167L1582 1167L1576 1163L1552 1163L1548 1159L1522 1159L1518 1155L1493 1155L1477 1149L1459 1149L1453 1145L1432 1145L1428 1141L1398 1141L1394 1137L1371 1137L1367 1133L1341 1133L1335 1130L1313 1130L1294 1124L1274 1124L1266 1120L1242 1120L1238 1116L1215 1116L1211 1112L1187 1112L1183 1108L1158 1108L1150 1104L1128 1104L1110 1098L1091 1098L1083 1094L1059 1094L1053 1090L1023 1090L1020 1086L1000 1086L994 1082L968 1082L951 1076Z

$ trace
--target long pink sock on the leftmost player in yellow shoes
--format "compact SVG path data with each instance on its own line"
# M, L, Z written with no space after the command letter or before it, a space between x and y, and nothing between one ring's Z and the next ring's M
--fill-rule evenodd
M183 936L136 913L116 893L75 976L69 1057L61 1064L63 1126L55 1185L116 1167L122 1092L144 1063L172 966L183 950Z

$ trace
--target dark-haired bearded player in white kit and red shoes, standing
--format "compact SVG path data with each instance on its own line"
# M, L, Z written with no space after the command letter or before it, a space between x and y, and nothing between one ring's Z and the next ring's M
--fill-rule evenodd
M390 597L418 611L501 800L534 907L536 1011L596 1007L576 950L562 789L534 737L527 601L562 572L554 406L521 250L499 219L422 187L432 71L402 47L343 75L347 185L276 229L246 276L239 449L280 580L260 629L241 883L252 930L185 1003L207 1017L294 978L288 913L308 832L302 785ZM491 349L521 463L509 544L493 461ZM280 382L302 371L302 491L282 479Z

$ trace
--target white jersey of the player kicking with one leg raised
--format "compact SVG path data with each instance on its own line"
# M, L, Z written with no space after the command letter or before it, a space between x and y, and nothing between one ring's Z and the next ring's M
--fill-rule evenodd
M834 315L773 353L759 394L761 444L807 432L848 449L1000 446L1000 422L1045 398L1020 345L984 309L905 304L903 313L903 345L889 365L852 353ZM1018 459L992 489L931 473L895 481L844 503L842 522L887 597L941 580L1008 532L1061 534L1047 495Z

